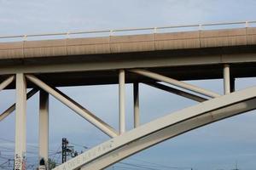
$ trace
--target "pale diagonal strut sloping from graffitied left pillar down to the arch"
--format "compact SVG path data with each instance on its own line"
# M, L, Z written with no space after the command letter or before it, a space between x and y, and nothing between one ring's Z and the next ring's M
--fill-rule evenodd
M108 136L110 137L115 137L118 135L118 133L113 129L113 127L110 127L106 122L103 122L99 117L95 116L93 113L86 110L83 106L79 105L73 99L70 99L66 94L63 94L57 88L50 87L45 82L42 82L37 77L34 77L32 75L26 75L26 78L31 82L35 83L36 85L38 85L39 88L44 89L44 91L54 96L55 99L60 100L62 104L67 105L67 107L69 107L71 110L78 113L79 116L82 116L88 122L102 130L103 133L108 134Z

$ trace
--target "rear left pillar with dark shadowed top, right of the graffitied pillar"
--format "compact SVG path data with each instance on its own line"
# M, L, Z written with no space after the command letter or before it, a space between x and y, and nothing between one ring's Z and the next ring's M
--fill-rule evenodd
M48 165L49 150L49 94L40 90L39 99L39 161L44 158Z

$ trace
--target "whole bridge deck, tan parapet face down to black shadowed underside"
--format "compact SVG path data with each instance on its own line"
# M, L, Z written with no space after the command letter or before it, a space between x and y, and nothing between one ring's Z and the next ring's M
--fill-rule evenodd
M179 80L221 78L224 63L232 77L255 77L255 62L253 27L0 43L0 79L22 71L54 86L117 83L120 68ZM129 74L127 82L150 81Z

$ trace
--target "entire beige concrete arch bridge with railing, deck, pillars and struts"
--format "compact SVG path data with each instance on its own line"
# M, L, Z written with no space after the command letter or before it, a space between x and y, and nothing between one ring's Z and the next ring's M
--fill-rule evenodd
M26 159L26 99L38 91L40 158L48 160L49 94L110 137L107 142L55 168L60 170L102 169L181 133L254 110L256 88L235 92L235 80L256 76L255 23L0 37L3 40L0 42L0 90L15 88L17 94L15 104L0 115L2 121L16 109L15 169L21 170ZM213 29L209 29L212 26ZM180 31L172 31L177 28ZM184 31L185 28L194 31ZM138 31L142 32L138 34ZM103 36L106 33L109 35ZM84 37L90 34L99 36ZM38 40L31 40L35 37ZM46 40L41 40L44 37ZM56 39L58 37L60 39ZM224 94L182 82L216 78L224 79ZM118 130L55 88L117 83ZM125 131L125 83L134 84L134 129L129 132ZM193 99L199 104L141 125L140 83ZM26 94L26 88L33 89Z

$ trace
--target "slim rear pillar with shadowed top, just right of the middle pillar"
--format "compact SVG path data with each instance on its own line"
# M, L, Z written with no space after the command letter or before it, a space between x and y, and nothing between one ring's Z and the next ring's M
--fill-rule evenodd
M140 113L139 113L139 84L133 83L133 105L134 105L134 127L140 125Z

